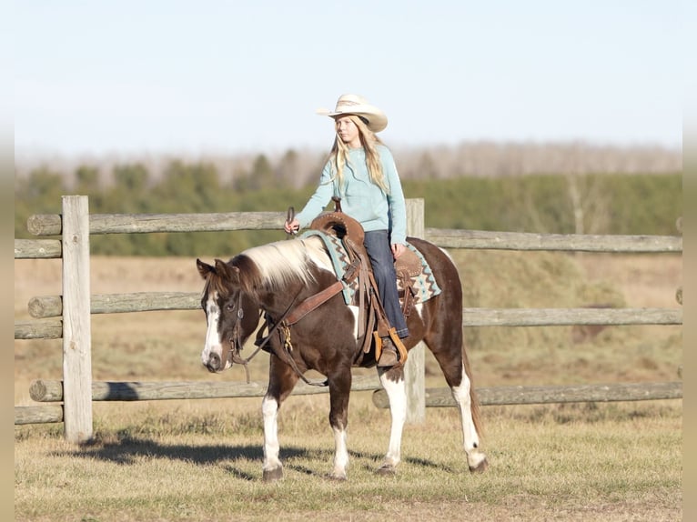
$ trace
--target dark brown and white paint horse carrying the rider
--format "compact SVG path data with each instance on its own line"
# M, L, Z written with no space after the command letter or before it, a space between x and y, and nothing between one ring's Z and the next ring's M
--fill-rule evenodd
M409 237L408 242L429 263L441 292L413 306L407 317L409 336L402 341L407 350L424 341L435 356L460 409L468 467L471 472L483 471L488 461L480 450L480 409L464 346L460 276L444 250L419 238ZM261 316L267 319L268 336L261 342L263 334L258 332L257 336L257 344L268 345L265 349L270 354L268 391L261 407L263 480L272 482L283 477L278 410L298 379L309 382L303 374L310 369L327 377L329 425L335 443L329 477L347 479L351 367L376 366L374 351L363 354L357 339L359 312L355 306L348 306L340 294L334 294L306 310L292 326L286 321L298 303L336 286L338 276L327 247L317 236L281 240L248 248L227 262L215 259L214 265L197 259L197 270L205 280L201 307L207 319L207 334L201 361L208 371L218 373L234 363L246 364L248 359L243 359L240 351L258 329ZM285 335L279 335L281 331ZM401 362L397 366L377 366L377 371L389 397L391 431L387 453L376 471L389 475L396 473L401 460L401 436L407 417L406 388Z

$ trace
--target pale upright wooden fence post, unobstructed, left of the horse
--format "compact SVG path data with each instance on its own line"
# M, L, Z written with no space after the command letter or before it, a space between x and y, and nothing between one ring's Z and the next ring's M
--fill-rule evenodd
M69 442L92 438L87 196L63 196L63 417Z

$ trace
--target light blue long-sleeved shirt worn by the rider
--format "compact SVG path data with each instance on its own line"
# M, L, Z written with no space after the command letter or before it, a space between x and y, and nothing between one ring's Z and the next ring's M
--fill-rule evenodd
M328 161L322 169L315 194L296 216L302 228L319 216L332 196L339 196L342 212L356 219L365 231L388 230L390 244L406 245L407 209L397 166L388 147L379 145L377 150L389 194L370 181L365 150L362 147L349 149L340 187L336 186L336 179L332 180L331 162Z

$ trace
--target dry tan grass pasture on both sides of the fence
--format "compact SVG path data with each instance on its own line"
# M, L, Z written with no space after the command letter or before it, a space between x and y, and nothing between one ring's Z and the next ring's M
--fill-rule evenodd
M456 252L465 306L677 307L682 257ZM92 293L201 290L193 259L93 257ZM15 260L15 320L60 293L59 260ZM96 380L244 380L200 365L200 311L93 316ZM678 379L681 326L474 328L475 386ZM15 405L61 378L60 340L15 341ZM250 365L264 379L268 356ZM360 370L372 372L374 370ZM357 370L357 373L359 371ZM427 354L427 386L443 386ZM373 471L389 412L354 393L348 481L325 476L328 396L290 397L279 417L286 478L261 482L260 399L95 403L95 441L62 425L15 427L17 520L676 520L682 518L682 400L483 407L490 468L470 475L455 408L405 428L394 477Z

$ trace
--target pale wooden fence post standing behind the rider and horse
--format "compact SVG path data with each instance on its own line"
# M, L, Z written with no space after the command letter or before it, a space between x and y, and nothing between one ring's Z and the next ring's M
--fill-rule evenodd
M424 236L424 200L407 199L407 236ZM407 422L422 423L426 420L426 375L424 367L424 343L409 350L404 365L404 381L407 386Z

